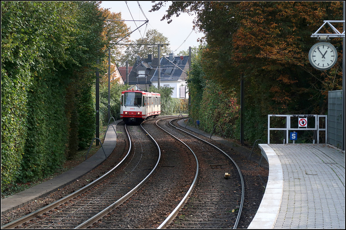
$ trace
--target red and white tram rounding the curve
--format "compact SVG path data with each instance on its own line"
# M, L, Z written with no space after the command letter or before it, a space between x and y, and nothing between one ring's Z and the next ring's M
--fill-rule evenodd
M128 90L121 92L120 118L126 123L140 123L161 113L160 93Z

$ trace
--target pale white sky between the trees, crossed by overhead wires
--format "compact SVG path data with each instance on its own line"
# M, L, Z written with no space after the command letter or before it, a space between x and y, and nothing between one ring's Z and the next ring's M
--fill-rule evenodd
M139 9L138 2L146 17ZM197 39L201 38L203 34L192 31L194 16L181 13L179 17L172 18L172 22L167 24L167 20L161 21L161 19L166 13L166 9L168 9L170 3L166 3L166 7L158 11L149 12L149 10L152 9L152 5L153 3L151 1L127 1L127 4L126 1L103 1L101 3L102 8L109 8L111 12L121 12L121 17L124 20L146 20L146 18L149 20L147 28L144 25L131 34L131 40L139 39L142 36L144 37L144 33L148 31L148 29L156 29L159 33L162 33L163 36L168 38L171 50L174 54L178 54L182 50L188 50L189 46L198 47L199 43ZM133 21L126 21L125 23L130 27L130 31L133 31L138 26L142 25L144 21L136 21L136 24Z

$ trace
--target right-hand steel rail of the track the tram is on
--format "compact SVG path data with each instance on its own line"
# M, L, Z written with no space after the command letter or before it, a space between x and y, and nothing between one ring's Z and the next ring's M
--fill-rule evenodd
M110 213L112 210L114 210L115 208L117 208L119 205L121 205L122 203L124 203L127 199L129 199L129 197L131 197L133 194L135 194L148 180L149 178L153 175L153 173L156 171L156 168L158 167L158 164L160 162L161 159L161 149L160 146L158 146L157 142L154 140L154 138L143 128L142 124L140 125L140 127L142 128L142 130L147 134L147 136L149 136L149 138L151 139L151 141L156 145L156 148L158 150L158 160L156 162L156 165L154 166L154 168L152 169L152 171L136 186L134 187L131 191L129 191L127 194L125 194L124 196L122 196L120 199L118 199L116 202L114 202L113 204L109 205L106 209L103 209L101 212L97 213L96 215L94 215L93 217L89 218L88 220L84 221L83 223L79 224L77 227L75 227L74 229L81 229L81 228L87 228L89 226L91 226L94 222L98 221L99 219L101 219L102 217L104 217L105 215L107 215L108 213ZM126 128L126 126L125 126ZM127 129L126 129L127 130Z

